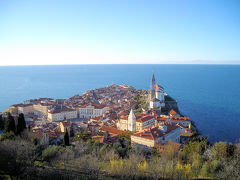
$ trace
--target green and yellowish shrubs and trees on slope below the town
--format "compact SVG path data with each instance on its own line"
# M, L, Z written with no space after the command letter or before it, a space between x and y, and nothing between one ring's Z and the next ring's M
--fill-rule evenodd
M122 137L112 144L79 138L71 146L41 147L27 131L0 142L0 173L11 179L239 179L240 144L190 141L181 151L161 154L131 147ZM8 137L8 136L7 136ZM0 176L4 177L4 176Z

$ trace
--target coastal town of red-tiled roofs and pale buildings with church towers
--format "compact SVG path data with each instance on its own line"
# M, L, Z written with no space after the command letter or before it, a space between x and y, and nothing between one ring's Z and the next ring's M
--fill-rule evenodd
M169 143L180 149L193 132L190 118L181 115L177 101L156 83L154 74L149 90L112 84L68 99L26 100L10 106L2 116L7 113L15 119L24 114L31 136L44 146L62 144L66 131L74 144L74 136L87 131L100 143L129 135L132 146L162 151Z

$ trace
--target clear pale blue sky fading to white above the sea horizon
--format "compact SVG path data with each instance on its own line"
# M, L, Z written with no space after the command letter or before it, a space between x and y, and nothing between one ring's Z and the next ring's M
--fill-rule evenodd
M0 0L0 66L240 64L239 0Z

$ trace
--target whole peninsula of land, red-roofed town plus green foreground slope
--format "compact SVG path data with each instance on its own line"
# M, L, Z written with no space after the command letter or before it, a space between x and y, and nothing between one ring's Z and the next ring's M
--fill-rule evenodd
M149 90L112 84L14 104L1 113L0 128L0 177L189 179L239 172L239 144L211 145L154 74Z

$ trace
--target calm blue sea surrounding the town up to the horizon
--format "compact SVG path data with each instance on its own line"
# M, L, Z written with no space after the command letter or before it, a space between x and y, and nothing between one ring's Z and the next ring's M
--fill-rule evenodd
M68 98L112 83L156 82L211 142L240 138L239 65L62 65L0 67L0 111L38 97Z

